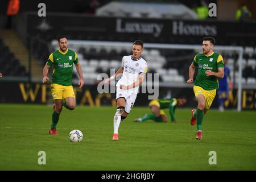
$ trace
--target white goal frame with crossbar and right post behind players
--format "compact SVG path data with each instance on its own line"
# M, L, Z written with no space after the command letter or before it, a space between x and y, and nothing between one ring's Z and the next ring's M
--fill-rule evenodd
M102 47L125 47L131 48L132 42L108 42L108 41L88 41L88 40L68 40L69 46L79 48L81 46L102 46ZM56 45L55 41L52 41L52 45ZM159 43L144 43L144 48L155 49L191 49L201 50L201 45L189 45L189 44L159 44ZM214 51L236 51L238 53L238 100L237 111L242 110L242 55L243 48L241 46L214 46ZM191 58L192 60L193 58ZM191 61L192 62L192 61ZM160 86L161 84L159 84Z

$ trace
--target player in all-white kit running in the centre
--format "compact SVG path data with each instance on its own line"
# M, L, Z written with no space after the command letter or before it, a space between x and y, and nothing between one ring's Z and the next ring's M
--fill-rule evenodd
M143 42L141 40L135 40L132 48L133 55L123 56L122 67L113 76L105 80L105 83L107 83L113 80L118 74L123 73L116 85L117 111L114 115L113 140L118 140L120 122L127 117L131 108L134 106L139 85L142 84L147 73L147 63L141 57L142 51Z

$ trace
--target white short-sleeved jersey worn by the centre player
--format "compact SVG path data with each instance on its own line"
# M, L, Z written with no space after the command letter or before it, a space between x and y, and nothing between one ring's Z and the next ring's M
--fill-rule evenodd
M118 88L120 85L128 86L133 84L134 82L138 81L139 74L146 75L147 73L147 63L142 57L139 57L138 59L133 59L131 55L123 56L122 68L123 75L116 85ZM138 89L139 85L127 91L137 94Z

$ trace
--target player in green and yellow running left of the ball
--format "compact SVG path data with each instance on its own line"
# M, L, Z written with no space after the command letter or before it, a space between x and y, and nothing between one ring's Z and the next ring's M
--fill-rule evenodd
M49 59L43 69L43 83L48 81L48 71L53 66L51 94L54 101L52 113L52 125L49 134L57 135L56 125L59 121L59 116L62 107L69 110L75 109L76 98L72 87L73 64L76 66L77 73L79 73L79 88L84 85L84 78L82 76L82 69L75 51L68 49L68 38L66 36L59 36L57 51L49 55Z

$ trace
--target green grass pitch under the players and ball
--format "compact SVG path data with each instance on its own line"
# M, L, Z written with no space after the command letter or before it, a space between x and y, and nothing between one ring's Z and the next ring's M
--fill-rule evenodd
M57 130L48 134L51 106L0 105L1 170L256 170L256 112L209 110L203 122L203 140L196 140L191 109L176 110L178 122L135 123L149 113L134 107L112 141L114 107L63 108ZM68 134L79 129L81 143ZM46 152L46 165L38 152ZM216 151L217 164L209 164Z

